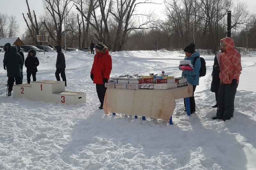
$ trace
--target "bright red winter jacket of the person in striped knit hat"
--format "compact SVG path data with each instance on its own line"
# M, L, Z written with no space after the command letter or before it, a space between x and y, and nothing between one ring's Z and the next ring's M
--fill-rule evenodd
M91 70L91 74L93 74L93 83L104 84L103 78L109 79L111 70L112 59L108 51L106 53L96 53Z

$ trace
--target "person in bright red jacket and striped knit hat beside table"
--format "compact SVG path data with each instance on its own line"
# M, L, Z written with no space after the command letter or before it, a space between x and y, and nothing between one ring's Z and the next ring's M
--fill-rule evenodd
M103 109L103 103L107 88L105 83L108 82L109 75L112 70L112 59L108 53L108 48L103 43L98 43L95 46L96 54L91 70L91 79L96 84L96 91L100 100L99 109Z

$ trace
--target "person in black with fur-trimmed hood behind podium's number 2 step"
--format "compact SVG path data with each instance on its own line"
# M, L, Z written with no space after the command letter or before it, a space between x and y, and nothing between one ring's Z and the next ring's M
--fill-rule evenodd
M32 74L33 81L36 81L37 66L39 66L39 60L36 57L36 50L29 50L28 57L25 60L25 67L27 67L27 81L30 84L30 77Z

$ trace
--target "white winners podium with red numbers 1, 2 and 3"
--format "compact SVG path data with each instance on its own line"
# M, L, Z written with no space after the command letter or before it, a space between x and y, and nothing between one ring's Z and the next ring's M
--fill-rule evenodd
M33 81L31 84L13 86L15 98L26 98L34 101L45 101L63 104L77 104L86 102L83 92L65 91L64 81Z

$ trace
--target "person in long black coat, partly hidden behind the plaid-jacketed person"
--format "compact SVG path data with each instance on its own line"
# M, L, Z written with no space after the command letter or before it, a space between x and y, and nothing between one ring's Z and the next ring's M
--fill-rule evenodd
M218 107L217 101L218 101L218 92L219 92L219 86L220 86L220 66L217 59L217 55L220 55L222 52L221 50L215 54L214 57L214 64L212 68L212 83L211 83L211 92L215 93L215 100L216 104L212 106L212 108Z

